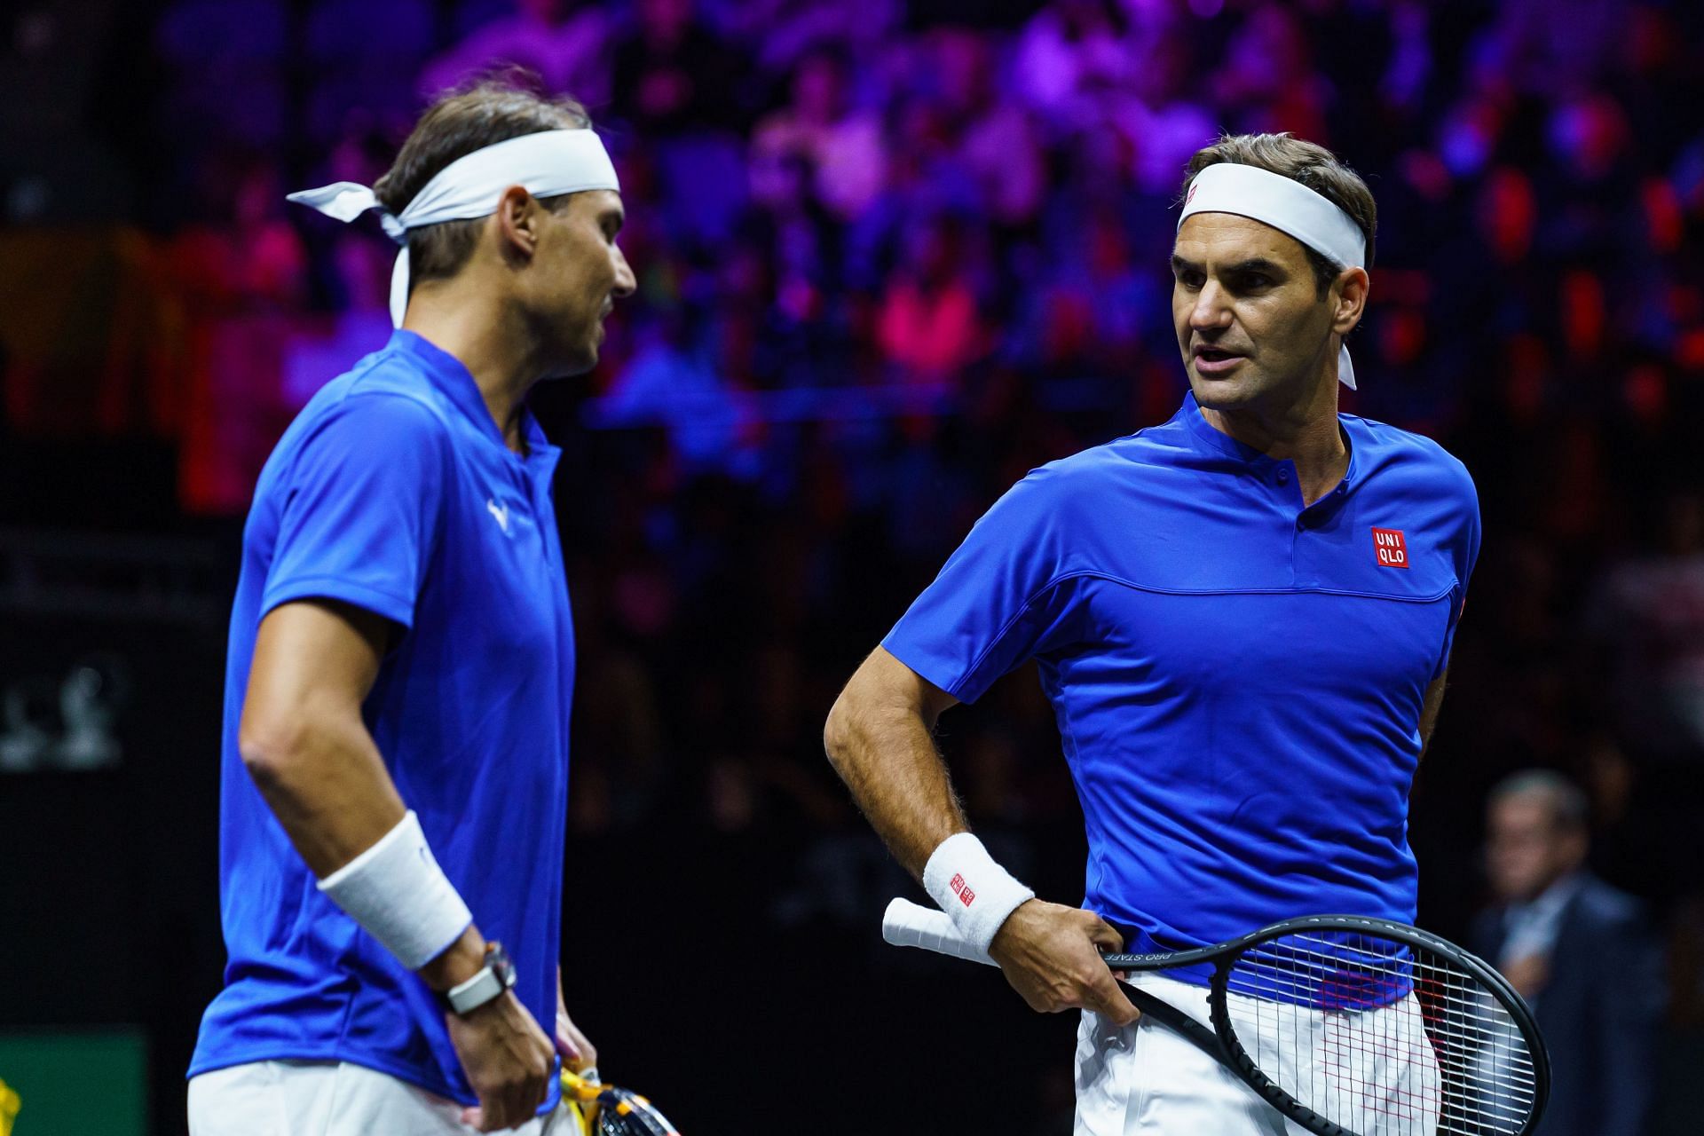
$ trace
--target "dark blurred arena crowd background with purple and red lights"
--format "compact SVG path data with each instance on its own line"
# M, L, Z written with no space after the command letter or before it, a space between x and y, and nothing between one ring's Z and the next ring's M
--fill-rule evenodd
M499 65L591 109L639 279L598 370L535 395L579 647L567 998L608 1078L687 1136L1070 1131L1074 1017L881 944L920 889L823 717L1007 485L1172 414L1183 165L1288 129L1379 199L1344 409L1440 439L1484 514L1413 795L1419 921L1460 938L1493 901L1489 787L1566 773L1665 959L1632 991L1658 1056L1614 1090L1655 1093L1646 1133L1704 1131L1682 0L14 0L0 1131L184 1131L244 513L291 416L389 334L378 227L285 194L371 184L431 92ZM1080 899L1034 671L941 744L997 855Z

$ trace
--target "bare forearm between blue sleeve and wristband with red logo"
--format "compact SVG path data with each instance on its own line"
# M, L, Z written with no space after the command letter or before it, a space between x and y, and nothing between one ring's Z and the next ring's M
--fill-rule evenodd
M966 829L932 726L927 707L883 695L854 676L823 731L823 748L840 780L917 879L941 841Z

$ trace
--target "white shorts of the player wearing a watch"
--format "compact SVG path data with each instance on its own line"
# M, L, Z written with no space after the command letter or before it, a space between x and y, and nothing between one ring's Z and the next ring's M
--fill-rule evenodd
M189 1080L189 1136L467 1136L462 1105L348 1061L256 1061ZM518 1136L576 1136L566 1107Z

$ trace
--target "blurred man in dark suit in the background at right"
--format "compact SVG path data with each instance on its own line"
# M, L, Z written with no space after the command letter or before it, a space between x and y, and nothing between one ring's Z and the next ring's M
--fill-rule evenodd
M1661 952L1643 904L1586 870L1586 797L1525 772L1488 806L1494 906L1474 949L1532 1007L1551 1051L1542 1136L1639 1136L1651 1110Z

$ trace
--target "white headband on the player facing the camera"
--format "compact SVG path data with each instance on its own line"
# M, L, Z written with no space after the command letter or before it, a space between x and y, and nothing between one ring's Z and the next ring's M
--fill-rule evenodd
M1215 162L1195 175L1177 228L1196 213L1235 213L1290 233L1334 264L1367 267L1367 238L1348 213L1283 174L1258 165ZM1350 347L1338 353L1338 378L1355 390Z

